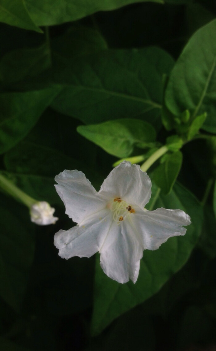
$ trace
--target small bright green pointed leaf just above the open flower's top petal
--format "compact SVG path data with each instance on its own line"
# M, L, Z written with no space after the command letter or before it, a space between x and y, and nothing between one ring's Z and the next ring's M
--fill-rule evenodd
M151 124L138 119L126 118L79 126L77 132L117 157L129 156L136 144L149 143L156 137Z

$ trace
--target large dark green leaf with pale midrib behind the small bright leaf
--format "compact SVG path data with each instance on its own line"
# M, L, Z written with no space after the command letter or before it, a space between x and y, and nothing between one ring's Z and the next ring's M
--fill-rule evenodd
M173 59L155 47L89 55L55 74L67 85L52 107L88 124L139 118L160 128L162 76L172 66Z

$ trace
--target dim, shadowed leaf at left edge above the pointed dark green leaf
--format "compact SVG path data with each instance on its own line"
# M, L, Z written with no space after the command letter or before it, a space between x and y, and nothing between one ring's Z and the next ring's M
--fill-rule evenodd
M31 49L6 53L0 60L0 78L3 84L32 78L50 66L50 51L46 44Z

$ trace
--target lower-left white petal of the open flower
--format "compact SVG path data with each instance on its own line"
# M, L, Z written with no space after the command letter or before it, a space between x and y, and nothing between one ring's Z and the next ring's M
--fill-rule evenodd
M59 256L66 259L91 257L103 245L111 224L111 213L105 209L89 216L82 225L58 231L54 236L54 245L59 250Z

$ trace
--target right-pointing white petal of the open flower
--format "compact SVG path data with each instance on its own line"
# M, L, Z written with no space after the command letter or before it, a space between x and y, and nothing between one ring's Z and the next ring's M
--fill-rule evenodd
M158 208L155 211L137 211L131 216L137 235L142 236L144 249L156 250L168 238L184 235L190 217L182 210Z

